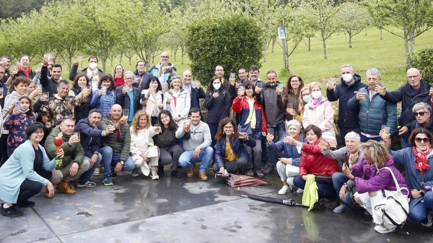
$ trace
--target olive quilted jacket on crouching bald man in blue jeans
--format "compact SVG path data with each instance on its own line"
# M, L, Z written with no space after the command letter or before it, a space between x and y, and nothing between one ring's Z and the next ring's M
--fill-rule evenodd
M110 114L101 120L101 130L105 130L107 125L114 125L116 122L112 121ZM117 139L117 134L120 132L120 138ZM126 161L129 157L129 150L131 147L131 134L129 132L129 125L126 123L120 129L114 130L114 133L101 137L101 148L110 146L114 154L120 154L119 160Z

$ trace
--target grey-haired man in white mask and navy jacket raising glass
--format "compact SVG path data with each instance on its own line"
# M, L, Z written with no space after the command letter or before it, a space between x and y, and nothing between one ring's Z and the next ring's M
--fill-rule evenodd
M350 64L343 64L340 68L341 82L335 84L329 81L326 86L326 96L329 101L339 101L338 127L340 130L340 146L344 146L344 137L348 132L359 133L358 108L347 108L347 102L356 94L360 88L366 86L361 82L361 76L355 74Z

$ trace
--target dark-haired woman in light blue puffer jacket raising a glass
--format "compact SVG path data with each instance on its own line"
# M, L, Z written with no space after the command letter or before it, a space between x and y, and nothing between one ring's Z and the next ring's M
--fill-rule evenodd
M74 76L75 77L75 76ZM90 108L97 108L104 118L110 113L111 107L116 104L116 84L110 75L104 75L98 82L99 89L93 90Z

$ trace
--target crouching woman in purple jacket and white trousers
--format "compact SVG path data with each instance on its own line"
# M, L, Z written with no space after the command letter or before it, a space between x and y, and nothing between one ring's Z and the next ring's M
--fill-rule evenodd
M409 187L406 185L400 171L394 166L394 159L383 144L368 140L361 144L361 148L364 157L353 165L351 171L345 164L342 166L343 173L350 180L346 185L351 188L354 184L357 190L353 195L355 201L373 216L373 221L376 223L374 230L382 234L393 232L396 226L384 225L382 218L376 214L374 207L382 198L387 197L391 191L397 190L392 174L394 174L400 188L402 188L403 194L410 196ZM386 169L386 167L390 170Z

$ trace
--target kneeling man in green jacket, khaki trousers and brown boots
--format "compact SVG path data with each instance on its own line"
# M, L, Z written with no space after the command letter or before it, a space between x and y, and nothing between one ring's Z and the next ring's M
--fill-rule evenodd
M86 172L89 167L89 161L84 160L84 149L81 146L78 136L74 135L75 119L67 116L62 119L62 123L56 126L53 131L48 135L45 140L45 150L50 159L56 157L56 145L54 138L62 136L62 145L60 146L64 151L62 158L62 169L53 170L51 183L57 184L57 189L65 194L75 194L75 189L72 187L71 182Z

